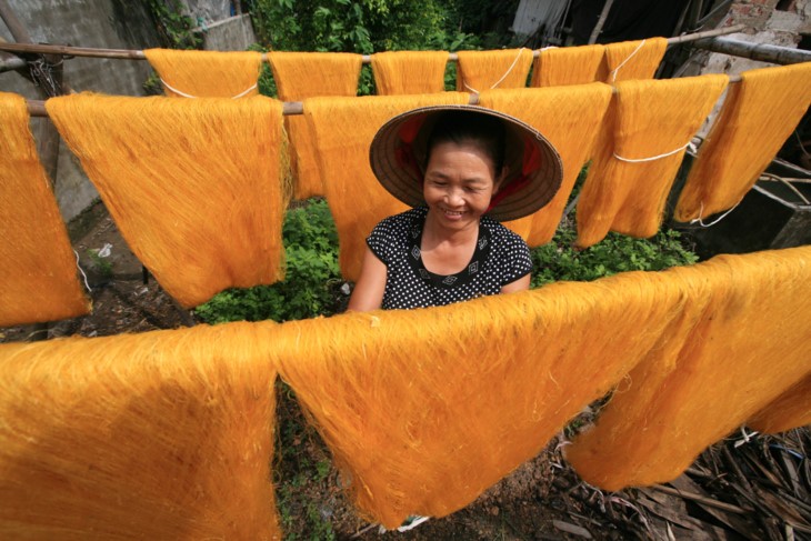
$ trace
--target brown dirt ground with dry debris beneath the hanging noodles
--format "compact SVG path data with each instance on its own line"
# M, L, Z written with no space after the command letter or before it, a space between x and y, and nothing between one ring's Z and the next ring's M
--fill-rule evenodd
M92 314L0 329L0 342L196 323L153 278L144 277L103 206L72 224L71 239L92 290ZM587 412L580 421L591 417ZM588 485L568 467L560 448L571 434L561 433L468 508L408 532L381 533L353 511L328 451L289 393L280 393L278 422L274 482L288 539L811 539L807 429L780 438L730 438L671 483L613 493Z

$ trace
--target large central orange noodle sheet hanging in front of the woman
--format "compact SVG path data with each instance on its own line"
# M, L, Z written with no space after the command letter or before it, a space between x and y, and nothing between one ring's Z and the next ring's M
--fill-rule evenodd
M655 344L680 293L639 272L289 322L273 354L360 510L391 529L461 509L535 455Z

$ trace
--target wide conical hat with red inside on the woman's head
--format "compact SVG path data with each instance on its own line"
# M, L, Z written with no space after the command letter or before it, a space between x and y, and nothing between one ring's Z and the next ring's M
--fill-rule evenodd
M560 154L552 143L525 122L477 106L422 107L386 122L369 147L369 161L378 181L389 193L410 207L425 203L422 177L428 137L440 113L458 110L495 117L505 128L507 176L499 187L503 197L487 216L499 221L517 220L534 213L552 200L563 176ZM404 154L410 161L404 162ZM523 187L517 189L519 183Z

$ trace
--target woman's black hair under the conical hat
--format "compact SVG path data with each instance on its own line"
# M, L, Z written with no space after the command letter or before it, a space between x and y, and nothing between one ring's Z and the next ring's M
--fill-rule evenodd
M504 124L490 114L475 111L445 111L437 117L428 137L425 166L431 160L433 147L440 143L473 143L493 163L495 176L504 167Z

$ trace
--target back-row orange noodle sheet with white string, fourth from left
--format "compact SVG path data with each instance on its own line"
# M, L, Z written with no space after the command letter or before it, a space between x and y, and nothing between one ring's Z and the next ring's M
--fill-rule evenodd
M524 88L532 66L530 49L459 51L457 90L479 93L494 88Z

